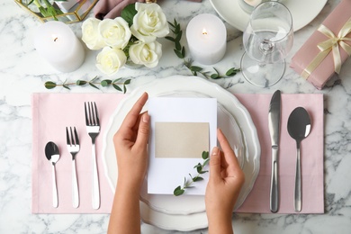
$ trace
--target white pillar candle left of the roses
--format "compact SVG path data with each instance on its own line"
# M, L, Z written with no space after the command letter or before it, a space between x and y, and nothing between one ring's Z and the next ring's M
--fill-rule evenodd
M34 47L52 67L61 72L71 72L80 67L85 50L75 33L65 23L43 23L34 37Z

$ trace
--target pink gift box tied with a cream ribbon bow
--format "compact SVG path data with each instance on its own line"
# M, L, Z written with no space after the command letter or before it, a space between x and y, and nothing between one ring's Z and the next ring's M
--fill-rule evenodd
M349 21L351 21L351 0L343 0L321 24L338 37L340 29L342 29ZM343 42L351 45L351 33L348 33L345 37L349 40L343 40ZM318 89L323 88L329 78L334 75L336 69L333 51L330 51L327 57L321 59L320 62L316 62L318 59L317 57L321 53L321 49L318 45L325 40L329 40L327 35L319 30L314 31L311 37L302 45L302 48L293 56L290 65L290 67L292 67L299 75L307 78L307 80ZM347 54L347 51L340 46L340 40L338 41L338 50L340 53L339 58L341 64L343 64L349 55ZM318 65L316 65L317 67L313 67L311 66L311 63ZM310 72L307 71L309 70L309 67Z

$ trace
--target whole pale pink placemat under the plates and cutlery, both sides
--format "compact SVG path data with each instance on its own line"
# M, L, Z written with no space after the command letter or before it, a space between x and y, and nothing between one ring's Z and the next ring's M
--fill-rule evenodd
M270 213L269 185L271 175L270 139L267 114L272 94L236 94L246 106L257 127L261 145L260 171L247 200L238 212ZM33 94L32 95L32 212L33 213L109 213L113 193L103 170L103 132L112 112L124 94ZM91 205L91 139L85 130L84 102L96 102L101 121L101 133L96 139L101 208ZM293 188L296 148L286 130L290 112L303 106L311 115L312 129L302 141L302 213L324 212L323 190L323 95L283 94L280 149L280 209L278 213L294 213ZM76 126L81 150L76 156L80 205L72 207L71 155L66 147L66 126ZM45 144L54 141L60 149L56 166L58 208L52 207L51 166L44 154Z

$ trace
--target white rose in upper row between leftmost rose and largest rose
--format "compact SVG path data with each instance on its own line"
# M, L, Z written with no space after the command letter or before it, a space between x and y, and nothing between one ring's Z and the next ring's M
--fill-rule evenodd
M106 45L118 49L124 49L131 37L129 25L121 17L117 17L114 20L104 19L99 23L98 30Z

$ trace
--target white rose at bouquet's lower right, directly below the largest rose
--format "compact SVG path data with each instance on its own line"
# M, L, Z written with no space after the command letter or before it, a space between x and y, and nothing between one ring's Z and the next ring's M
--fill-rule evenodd
M145 43L139 40L130 46L130 59L135 64L142 64L146 67L156 67L159 58L162 56L162 45L156 40Z

